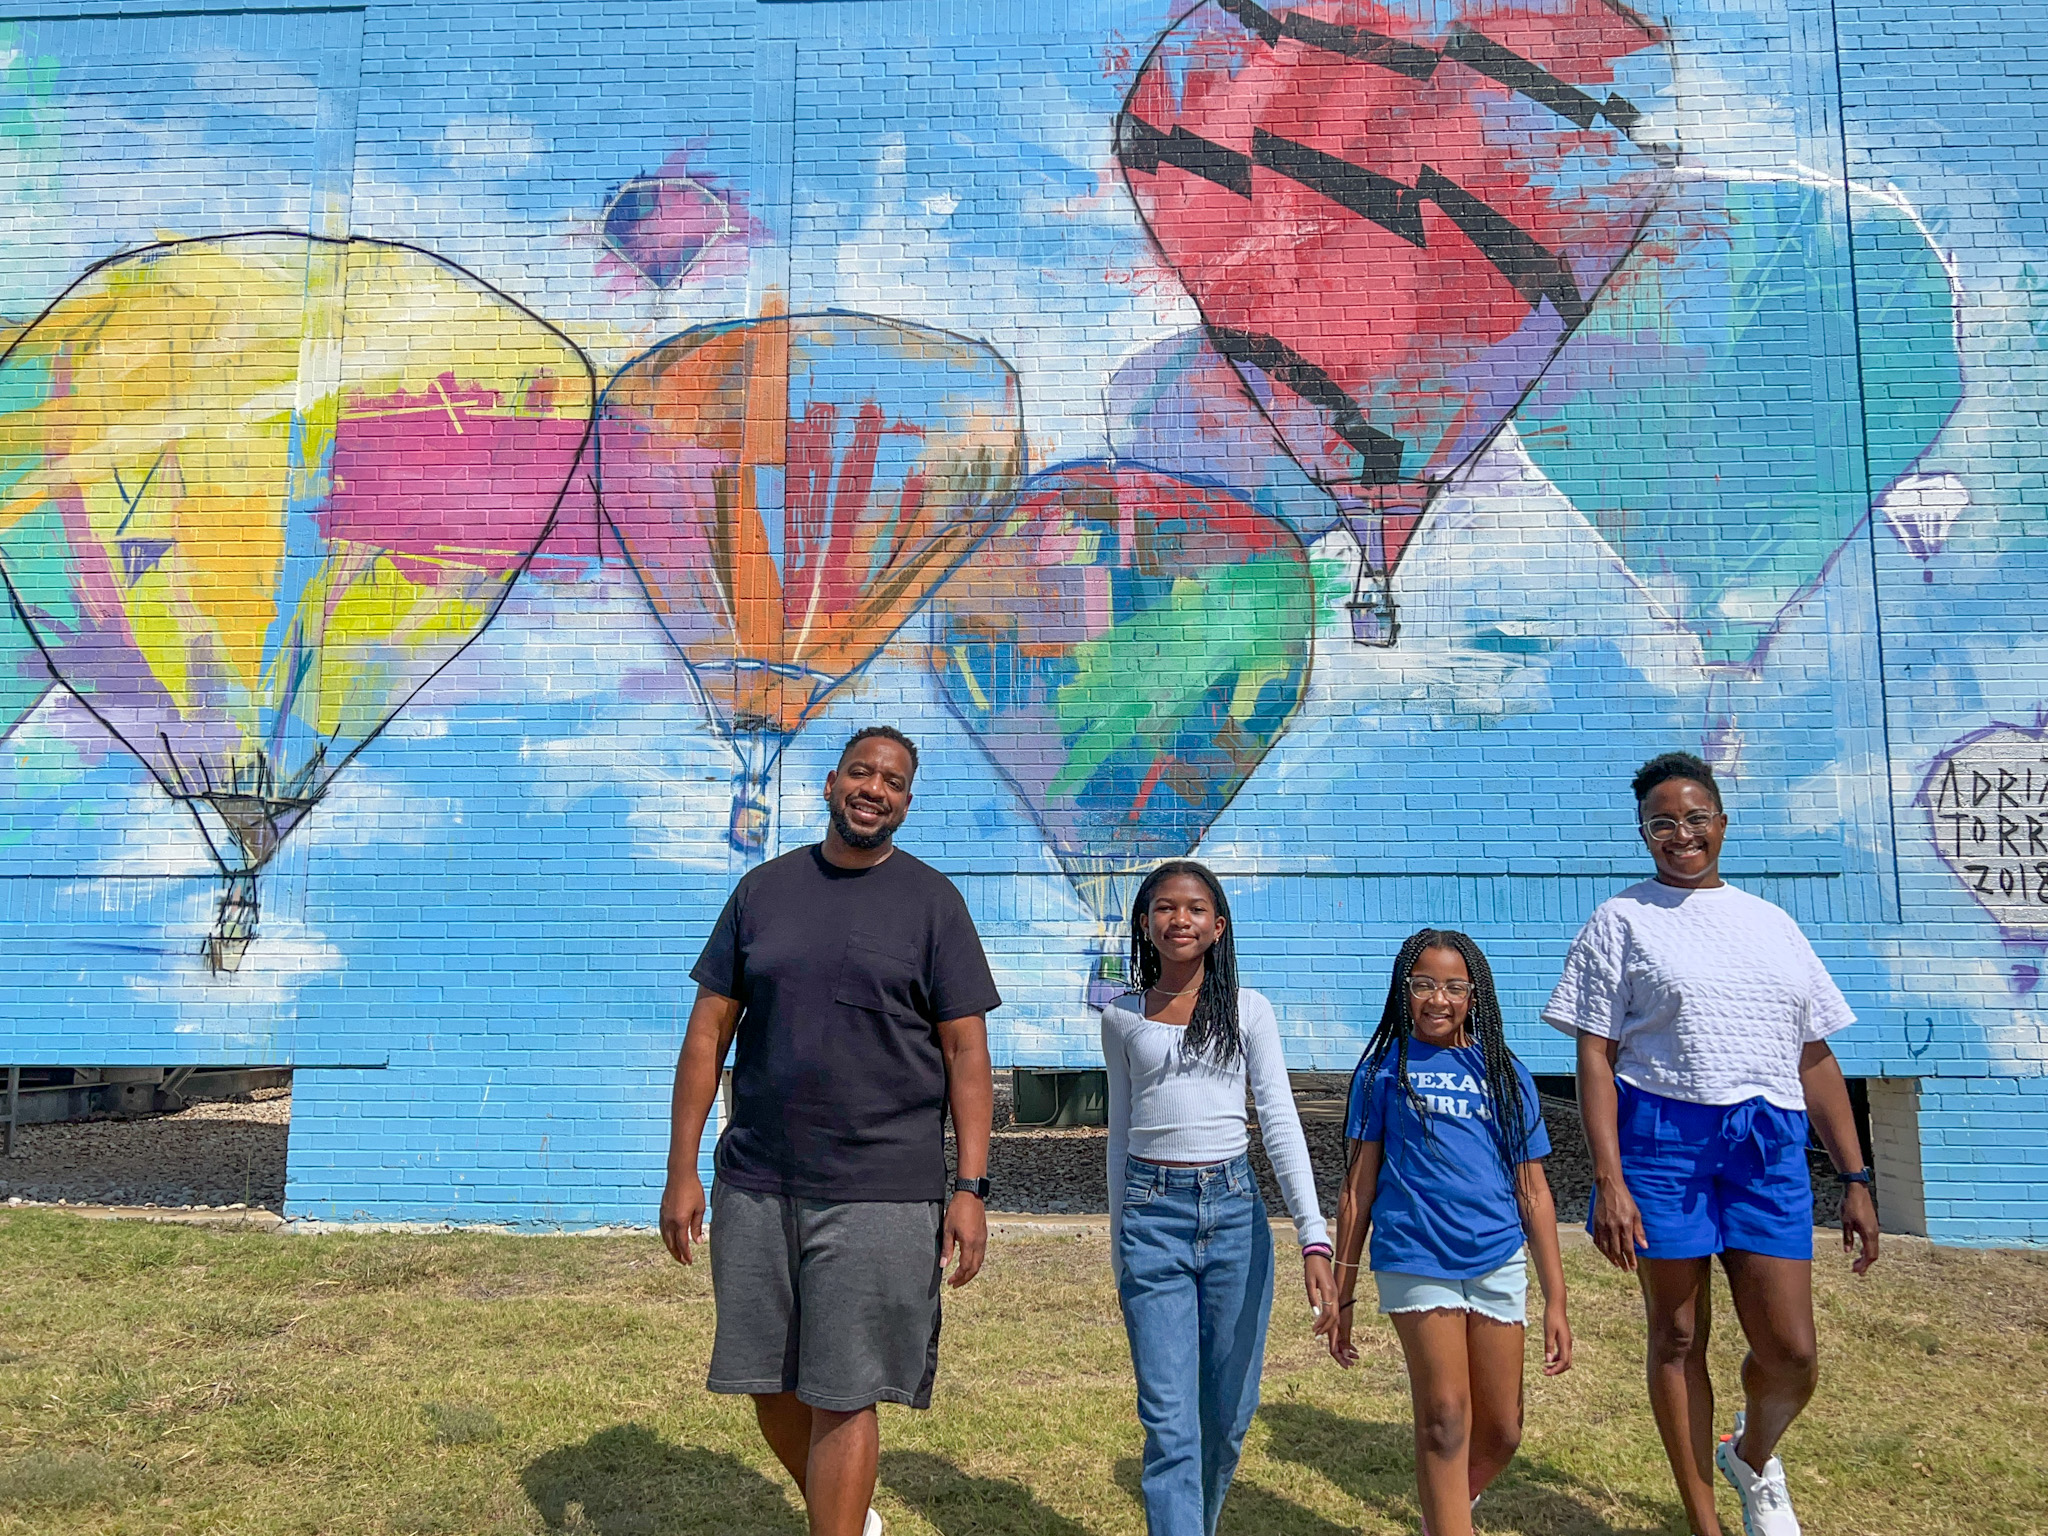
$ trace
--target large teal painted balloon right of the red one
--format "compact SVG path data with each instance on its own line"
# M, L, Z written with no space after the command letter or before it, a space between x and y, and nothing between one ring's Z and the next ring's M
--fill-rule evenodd
M1706 662L1741 668L1954 414L1956 324L1898 199L1692 178L1516 432ZM1858 354L1862 399L1839 379Z

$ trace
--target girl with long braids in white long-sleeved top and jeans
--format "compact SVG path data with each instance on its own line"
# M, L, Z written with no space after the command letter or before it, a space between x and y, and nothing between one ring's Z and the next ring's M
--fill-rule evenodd
M1335 1305L1315 1171L1272 1004L1239 989L1231 903L1192 860L1130 907L1143 991L1102 1010L1110 1067L1110 1253L1145 1423L1151 1536L1212 1536L1260 1405L1274 1241L1245 1155L1245 1083L1300 1239L1309 1305ZM1194 1327L1190 1327L1190 1321Z

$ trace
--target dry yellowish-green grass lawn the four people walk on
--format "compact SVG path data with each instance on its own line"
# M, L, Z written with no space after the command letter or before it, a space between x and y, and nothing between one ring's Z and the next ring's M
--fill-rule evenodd
M1530 1374L1528 1438L1479 1528L1683 1532L1634 1282L1565 1257L1579 1366ZM1362 1329L1339 1372L1290 1268L1223 1530L1413 1532L1393 1333ZM1806 1530L2048 1528L2048 1255L1901 1239L1862 1282L1833 1253L1817 1280L1821 1395L1784 1446ZM745 1399L702 1391L709 1350L709 1274L651 1237L0 1212L0 1532L801 1536ZM1143 1532L1139 1448L1106 1243L997 1239L948 1303L938 1407L883 1413L877 1505L891 1536Z

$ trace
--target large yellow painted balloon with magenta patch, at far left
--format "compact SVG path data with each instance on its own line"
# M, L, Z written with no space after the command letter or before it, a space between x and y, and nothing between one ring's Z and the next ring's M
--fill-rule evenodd
M197 817L215 971L279 844L492 621L594 393L459 266L274 231L100 262L0 358L0 569L57 680Z

